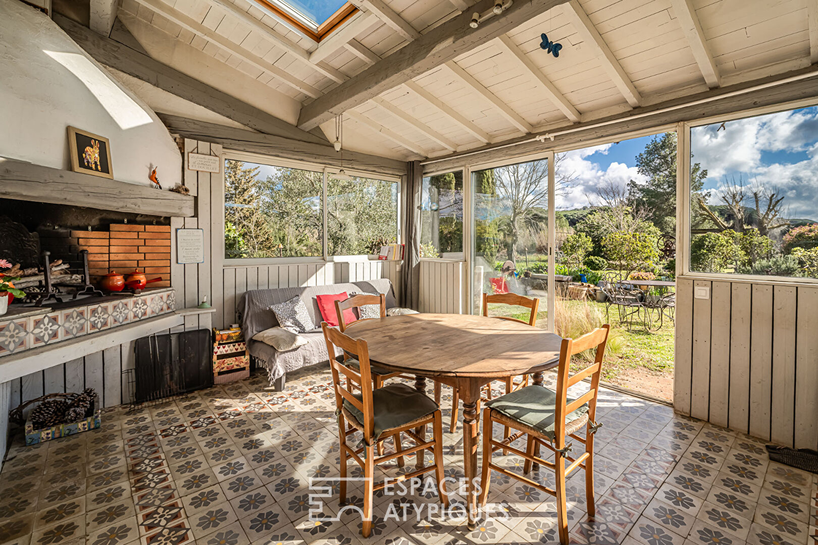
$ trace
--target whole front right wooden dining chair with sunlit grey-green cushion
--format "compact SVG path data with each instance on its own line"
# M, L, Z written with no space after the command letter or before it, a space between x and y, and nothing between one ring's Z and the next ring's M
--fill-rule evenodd
M557 389L552 391L545 386L526 386L510 394L502 395L496 400L486 403L483 409L483 476L480 486L479 502L486 504L488 499L489 476L492 469L522 480L557 498L557 528L560 532L560 543L568 545L568 515L565 506L565 479L578 467L585 470L585 490L587 496L587 511L594 516L594 433L600 427L596 423L596 398L600 386L600 370L605 355L605 344L608 342L610 325L605 324L591 333L586 333L576 339L564 339L560 348L560 367L557 372ZM594 363L582 371L569 376L571 356L596 347ZM583 378L591 377L591 387L577 399L568 397L568 389ZM492 426L499 422L509 426L517 432L503 440L492 437ZM577 431L586 427L585 438L577 435ZM510 446L522 436L526 438L526 452ZM565 444L566 437L570 437L585 444L585 451L576 458L569 456L573 443ZM540 446L545 446L555 453L554 462L540 458ZM499 449L510 450L525 458L524 472L531 471L532 462L551 467L556 474L556 488L545 485L508 471L492 462L492 453ZM565 461L570 465L565 467Z

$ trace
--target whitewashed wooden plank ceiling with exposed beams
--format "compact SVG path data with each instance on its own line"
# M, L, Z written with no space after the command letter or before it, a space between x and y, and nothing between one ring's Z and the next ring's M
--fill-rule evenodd
M92 2L102 34L108 3ZM353 0L360 12L321 42L254 0L119 9L300 102L302 130L344 114L348 147L361 136L394 159L478 149L818 63L818 0L753 9L528 0L470 29L471 14L493 3ZM559 57L540 48L543 33L562 44Z

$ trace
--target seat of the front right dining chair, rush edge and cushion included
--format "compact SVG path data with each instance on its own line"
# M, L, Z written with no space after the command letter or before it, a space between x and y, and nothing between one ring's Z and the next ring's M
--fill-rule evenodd
M568 402L574 400L568 398ZM555 414L557 394L545 386L525 386L496 400L486 402L492 408L492 419L501 424L510 424L518 430L555 437ZM572 434L588 422L588 404L574 410L565 417L565 433Z

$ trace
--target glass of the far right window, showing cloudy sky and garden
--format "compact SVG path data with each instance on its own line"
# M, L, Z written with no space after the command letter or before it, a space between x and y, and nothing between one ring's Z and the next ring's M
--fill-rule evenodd
M818 278L818 107L690 129L690 270Z

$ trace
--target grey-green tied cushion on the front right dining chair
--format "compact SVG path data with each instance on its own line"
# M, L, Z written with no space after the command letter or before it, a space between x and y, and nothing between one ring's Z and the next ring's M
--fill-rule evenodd
M568 398L570 404L572 398ZM557 402L556 392L545 386L526 386L510 394L502 395L495 400L487 401L486 406L491 407L498 413L508 418L521 422L528 427L542 433L543 436L553 440L555 407ZM588 412L588 404L583 404L578 409L565 417L565 422L571 422Z

